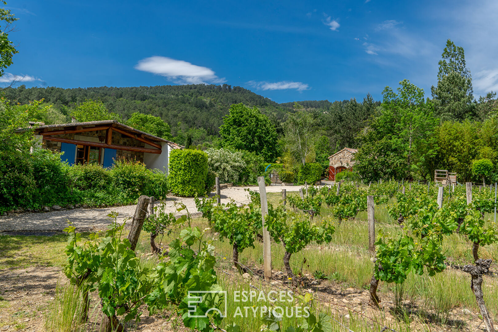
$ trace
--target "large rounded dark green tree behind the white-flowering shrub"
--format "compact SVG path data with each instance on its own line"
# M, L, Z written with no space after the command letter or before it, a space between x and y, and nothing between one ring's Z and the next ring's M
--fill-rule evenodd
M271 162L279 155L275 127L256 107L232 105L223 118L220 136L224 146L254 152L266 161Z

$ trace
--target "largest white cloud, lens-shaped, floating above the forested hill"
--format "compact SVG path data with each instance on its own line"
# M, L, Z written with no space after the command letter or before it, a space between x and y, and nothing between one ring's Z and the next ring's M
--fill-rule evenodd
M142 59L138 61L135 69L164 76L168 81L177 84L219 84L227 81L225 78L216 76L215 72L210 68L163 56Z

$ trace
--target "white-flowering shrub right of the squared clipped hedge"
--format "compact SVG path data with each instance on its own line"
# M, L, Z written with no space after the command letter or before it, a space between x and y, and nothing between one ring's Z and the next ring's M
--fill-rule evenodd
M208 154L208 169L218 174L221 183L239 181L240 174L247 167L242 151L209 148L204 152Z

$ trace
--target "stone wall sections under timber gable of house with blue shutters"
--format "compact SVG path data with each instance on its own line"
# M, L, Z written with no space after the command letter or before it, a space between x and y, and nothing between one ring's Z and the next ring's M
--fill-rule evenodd
M105 134L105 131L104 131L104 134ZM54 137L75 139L74 135L75 134L54 135ZM99 132L98 131L87 131L87 132L80 132L77 135L98 138ZM145 147L144 143L142 143L136 139L133 139L131 137L122 135L116 131L113 132L112 144L124 145L124 146ZM61 152L61 142L43 140L42 148L49 149L49 150L52 150L55 152ZM126 159L126 160L136 159L137 161L143 162L143 152L117 150L116 156L118 158L122 158L122 159Z

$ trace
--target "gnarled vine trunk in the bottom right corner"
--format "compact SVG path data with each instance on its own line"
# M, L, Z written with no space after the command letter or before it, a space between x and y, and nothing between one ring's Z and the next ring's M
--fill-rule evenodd
M484 303L484 293L482 289L483 274L487 274L489 272L491 262L491 259L478 259L476 261L476 265L465 265L462 270L470 273L472 276L470 287L476 296L477 306L481 310L486 331L496 332L493 322L491 321L490 314L488 313L488 308L486 308L486 304Z

